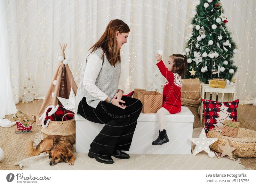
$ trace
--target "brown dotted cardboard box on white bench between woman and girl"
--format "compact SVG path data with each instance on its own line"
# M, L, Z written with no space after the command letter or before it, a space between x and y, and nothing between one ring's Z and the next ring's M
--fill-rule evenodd
M163 95L157 91L139 92L138 99L143 104L143 113L156 113L163 103Z

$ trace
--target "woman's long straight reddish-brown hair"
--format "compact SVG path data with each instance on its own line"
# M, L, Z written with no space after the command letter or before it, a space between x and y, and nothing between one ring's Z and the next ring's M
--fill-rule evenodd
M124 21L120 19L111 20L100 39L89 49L92 49L93 52L101 47L112 66L117 62L121 63L120 50L117 48L116 41L117 30L120 34L130 32L130 28Z

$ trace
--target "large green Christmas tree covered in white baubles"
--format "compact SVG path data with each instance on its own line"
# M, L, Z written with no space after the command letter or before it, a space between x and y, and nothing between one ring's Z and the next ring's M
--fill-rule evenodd
M204 83L224 78L229 83L237 69L232 60L237 49L226 27L228 19L219 0L196 0L196 5L183 53L188 56L185 78L199 78Z

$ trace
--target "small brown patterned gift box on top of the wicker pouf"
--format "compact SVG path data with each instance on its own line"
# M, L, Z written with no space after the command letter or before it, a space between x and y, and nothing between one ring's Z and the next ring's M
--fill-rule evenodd
M237 121L225 120L223 122L223 128L222 128L221 135L229 136L229 137L236 137L238 134L239 124L240 123Z

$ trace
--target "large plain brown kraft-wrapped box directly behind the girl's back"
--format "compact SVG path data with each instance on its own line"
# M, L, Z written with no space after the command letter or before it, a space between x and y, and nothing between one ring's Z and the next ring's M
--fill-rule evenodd
M181 98L198 100L200 98L201 82L197 78L181 80Z

